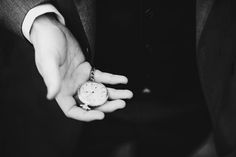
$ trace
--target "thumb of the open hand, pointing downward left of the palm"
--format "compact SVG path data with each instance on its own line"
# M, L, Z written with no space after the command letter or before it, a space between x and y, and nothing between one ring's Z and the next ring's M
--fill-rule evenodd
M53 55L35 55L36 66L47 87L47 98L53 99L60 90L61 79L57 59Z

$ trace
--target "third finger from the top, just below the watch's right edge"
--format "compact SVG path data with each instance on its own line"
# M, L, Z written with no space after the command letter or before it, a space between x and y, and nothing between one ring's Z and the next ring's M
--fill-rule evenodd
M124 100L113 100L113 101L108 101L104 105L99 106L96 108L96 110L102 111L102 112L113 112L118 109L124 108L126 105Z

